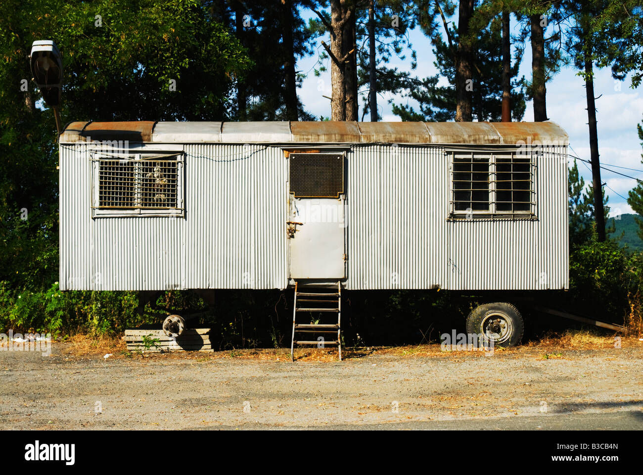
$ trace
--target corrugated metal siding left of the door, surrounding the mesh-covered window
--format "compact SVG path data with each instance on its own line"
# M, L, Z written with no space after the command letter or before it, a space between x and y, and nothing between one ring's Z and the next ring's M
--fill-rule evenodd
M279 148L186 145L185 219L91 219L89 155L70 148L60 151L62 290L287 286Z

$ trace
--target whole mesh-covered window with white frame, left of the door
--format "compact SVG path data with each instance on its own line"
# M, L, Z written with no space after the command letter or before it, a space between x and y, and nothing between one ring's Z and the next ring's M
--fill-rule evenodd
M94 216L182 214L179 155L94 158Z

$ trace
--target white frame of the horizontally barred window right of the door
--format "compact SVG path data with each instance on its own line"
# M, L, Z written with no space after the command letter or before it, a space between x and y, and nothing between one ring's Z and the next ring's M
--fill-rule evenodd
M463 150L463 149L452 149L446 150L446 154L449 160L449 216L448 219L538 219L537 209L538 209L538 158L539 153L536 150L530 150L527 152L516 151L514 147L511 149L498 149L494 151L476 151L476 150ZM454 174L455 171L455 160L462 158L471 157L471 162L475 158L485 158L488 160L488 176L489 176L489 207L487 210L456 210L455 209L455 189L454 186ZM503 191L499 190L496 187L496 164L498 159L510 158L511 162L514 161L514 158L529 158L529 174L530 174L530 203L529 210L498 210L496 205L498 204L496 192ZM513 172L513 171L512 171ZM513 190L513 187L512 187ZM513 201L509 201L512 203Z

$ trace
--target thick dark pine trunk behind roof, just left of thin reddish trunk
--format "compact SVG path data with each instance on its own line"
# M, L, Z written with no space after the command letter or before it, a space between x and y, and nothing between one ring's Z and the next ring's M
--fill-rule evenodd
M457 105L455 120L457 122L471 122L473 73L471 68L472 51L471 41L467 39L469 33L469 20L473 15L474 0L461 0L458 12L458 56L455 67L455 95Z

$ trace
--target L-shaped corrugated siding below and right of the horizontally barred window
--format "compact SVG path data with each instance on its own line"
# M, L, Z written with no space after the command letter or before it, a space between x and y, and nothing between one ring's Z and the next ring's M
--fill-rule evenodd
M448 221L448 288L568 288L566 157L566 147L552 147L539 158L538 220Z

